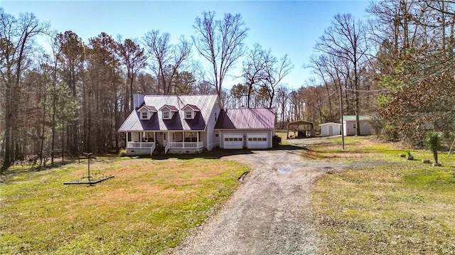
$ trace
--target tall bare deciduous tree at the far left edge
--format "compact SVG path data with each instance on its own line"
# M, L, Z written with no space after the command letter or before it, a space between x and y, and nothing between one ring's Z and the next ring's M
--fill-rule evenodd
M20 13L18 18L5 13L0 8L0 75L1 94L4 105L4 146L2 156L4 162L0 168L6 170L14 161L23 156L17 142L19 139L17 125L19 107L21 107L21 82L23 71L31 63L36 50L35 38L45 33L48 24L38 21L33 13Z

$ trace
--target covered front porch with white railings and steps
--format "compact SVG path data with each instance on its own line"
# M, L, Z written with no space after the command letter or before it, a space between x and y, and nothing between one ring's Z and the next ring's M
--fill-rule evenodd
M200 131L132 131L126 133L127 155L200 153Z

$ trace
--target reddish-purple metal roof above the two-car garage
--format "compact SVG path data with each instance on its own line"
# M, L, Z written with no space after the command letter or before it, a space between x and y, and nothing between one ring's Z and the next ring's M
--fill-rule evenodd
M274 108L222 109L215 129L274 129Z

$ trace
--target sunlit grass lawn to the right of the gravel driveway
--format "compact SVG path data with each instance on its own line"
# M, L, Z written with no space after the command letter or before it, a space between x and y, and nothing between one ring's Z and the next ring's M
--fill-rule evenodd
M349 141L349 140L348 140ZM380 159L381 166L324 175L315 185L311 208L323 242L320 254L455 254L454 157L443 167L397 156L405 150L370 138L349 141L346 152L317 150L335 161ZM313 148L310 148L310 150Z

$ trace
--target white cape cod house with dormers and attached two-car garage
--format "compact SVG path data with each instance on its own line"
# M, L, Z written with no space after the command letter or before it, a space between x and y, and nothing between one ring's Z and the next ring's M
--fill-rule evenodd
M272 148L275 109L221 109L216 94L134 94L119 128L127 155L200 153L213 148Z

